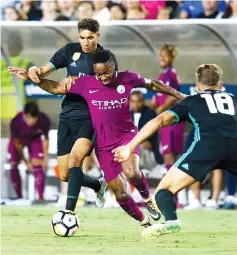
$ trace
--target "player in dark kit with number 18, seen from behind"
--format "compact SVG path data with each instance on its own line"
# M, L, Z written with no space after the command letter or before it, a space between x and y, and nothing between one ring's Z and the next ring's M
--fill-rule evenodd
M199 93L186 97L148 122L132 141L113 151L115 160L122 162L157 129L185 120L194 125L192 145L167 172L155 192L165 223L145 229L146 238L180 231L174 194L203 181L215 169L228 169L237 175L237 97L221 91L222 70L215 64L200 66L196 77Z

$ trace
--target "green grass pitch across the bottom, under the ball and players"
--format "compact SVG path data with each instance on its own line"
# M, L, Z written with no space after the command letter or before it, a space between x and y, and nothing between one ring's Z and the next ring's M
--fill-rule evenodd
M144 240L141 227L120 209L77 209L81 229L56 237L57 208L2 207L2 254L42 255L236 255L237 211L179 212L180 233ZM80 211L80 213L79 213Z

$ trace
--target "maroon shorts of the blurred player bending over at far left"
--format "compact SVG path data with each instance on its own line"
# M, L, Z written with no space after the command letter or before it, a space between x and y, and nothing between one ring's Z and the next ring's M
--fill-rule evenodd
M31 159L42 159L43 158L43 145L40 139L31 141L21 141L23 146L26 146L29 150L29 155ZM13 139L11 138L8 144L8 153L10 155L10 162L20 162L21 156L17 152L14 146Z

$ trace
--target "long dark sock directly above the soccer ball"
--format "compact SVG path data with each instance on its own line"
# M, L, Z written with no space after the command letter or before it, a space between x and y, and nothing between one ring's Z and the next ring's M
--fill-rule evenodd
M70 211L75 210L82 182L83 182L82 168L71 167L69 169L66 210Z

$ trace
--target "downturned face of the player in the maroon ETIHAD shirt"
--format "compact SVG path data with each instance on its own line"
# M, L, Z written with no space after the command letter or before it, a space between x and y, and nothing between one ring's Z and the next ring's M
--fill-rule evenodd
M95 64L94 72L96 77L104 84L104 86L109 86L110 82L114 78L114 63Z

